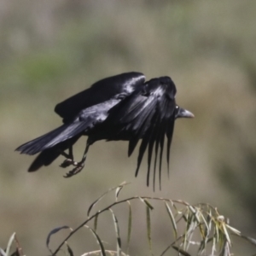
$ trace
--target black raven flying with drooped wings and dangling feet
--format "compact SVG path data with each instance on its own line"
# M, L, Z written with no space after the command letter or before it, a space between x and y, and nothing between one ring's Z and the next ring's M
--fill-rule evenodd
M169 172L169 155L174 122L192 118L193 113L175 102L176 86L169 77L145 81L143 73L121 73L102 79L87 90L71 96L55 106L63 125L16 148L21 154L37 154L28 172L49 166L58 156L65 156L61 167L74 166L65 177L72 177L84 167L90 145L99 140L128 141L128 156L142 140L137 158L137 172L148 148L148 177L154 151L154 180L159 156L159 180L165 137ZM82 160L73 160L73 144L87 136ZM68 149L68 153L65 150ZM160 149L160 150L159 150Z

